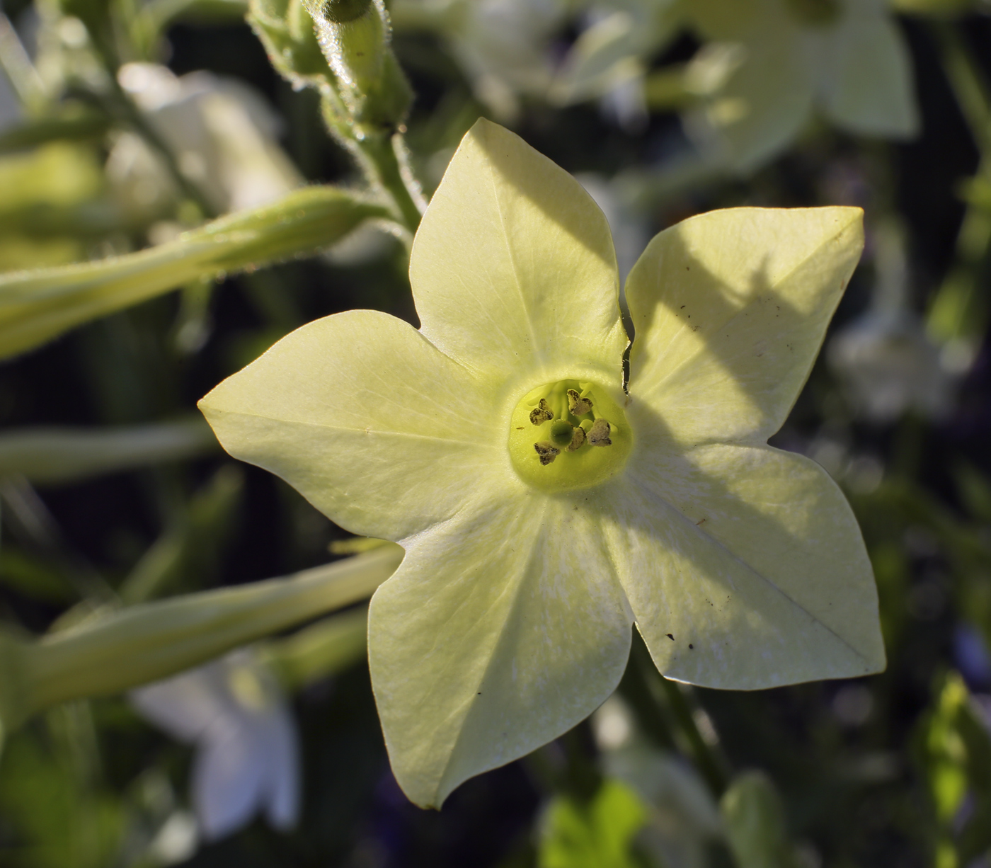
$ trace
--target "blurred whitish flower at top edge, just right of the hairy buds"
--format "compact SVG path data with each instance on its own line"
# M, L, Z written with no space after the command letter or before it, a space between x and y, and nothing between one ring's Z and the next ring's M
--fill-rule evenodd
M503 122L519 112L519 96L550 87L550 39L568 0L396 0L396 30L438 31L480 102Z

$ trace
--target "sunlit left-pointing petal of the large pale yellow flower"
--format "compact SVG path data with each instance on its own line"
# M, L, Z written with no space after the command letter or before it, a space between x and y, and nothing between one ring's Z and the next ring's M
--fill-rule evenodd
M231 455L367 536L401 539L449 518L469 480L515 483L492 396L376 311L296 329L199 405Z

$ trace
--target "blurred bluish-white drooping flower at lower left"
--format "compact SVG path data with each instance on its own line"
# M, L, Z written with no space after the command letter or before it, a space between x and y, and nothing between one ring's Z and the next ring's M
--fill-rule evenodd
M263 812L277 829L299 814L295 724L275 677L250 649L132 691L131 703L193 744L192 803L206 840Z

